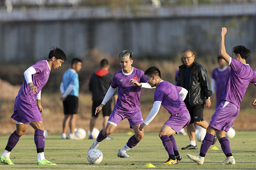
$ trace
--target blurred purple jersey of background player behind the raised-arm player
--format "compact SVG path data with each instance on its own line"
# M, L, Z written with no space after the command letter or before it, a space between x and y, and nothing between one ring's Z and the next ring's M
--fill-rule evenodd
M216 68L212 71L212 79L215 80L216 87L216 108L221 104L221 97L224 94L227 79L229 78L230 69L226 66L226 69Z

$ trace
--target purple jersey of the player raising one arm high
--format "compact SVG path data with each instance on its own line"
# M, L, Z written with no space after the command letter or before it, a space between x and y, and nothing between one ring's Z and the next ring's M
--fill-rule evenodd
M256 84L256 74L249 64L242 64L231 57L230 60L229 79L221 100L230 101L240 108L249 82Z

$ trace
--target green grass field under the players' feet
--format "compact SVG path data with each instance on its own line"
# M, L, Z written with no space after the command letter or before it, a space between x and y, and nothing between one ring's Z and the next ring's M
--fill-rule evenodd
M0 137L0 148L4 150L9 136ZM98 165L89 164L87 161L87 150L94 140L61 140L60 135L50 135L46 138L45 157L47 160L56 163L57 166L37 166L37 153L34 143L34 136L24 135L12 150L11 160L13 166L0 164L1 170L15 169L143 169L147 164L153 164L156 169L256 169L256 132L236 132L236 136L230 139L230 145L235 165L218 165L226 159L219 142L214 146L220 150L208 151L204 164L198 166L190 161L186 154L199 154L200 142L197 142L198 150L181 150L189 144L188 136L174 135L182 161L176 165L161 165L168 159L162 141L158 133L145 133L142 141L133 149L127 152L131 159L117 158L117 152L129 139L126 133L114 133L111 135L114 140L104 140L98 147L103 153L103 160ZM1 154L2 154L1 151ZM144 168L145 169L145 168Z

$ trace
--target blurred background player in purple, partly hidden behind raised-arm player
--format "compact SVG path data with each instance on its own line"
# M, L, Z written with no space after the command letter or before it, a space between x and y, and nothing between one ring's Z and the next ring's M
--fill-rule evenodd
M230 69L227 67L227 62L221 58L221 56L218 56L218 64L219 67L212 71L211 78L212 93L216 93L216 109L219 104L221 104L221 97L225 91L225 86L230 72Z

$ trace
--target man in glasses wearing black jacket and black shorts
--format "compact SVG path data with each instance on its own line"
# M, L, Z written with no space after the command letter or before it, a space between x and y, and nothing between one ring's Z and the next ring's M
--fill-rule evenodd
M184 64L179 67L177 86L181 86L188 91L184 103L189 110L191 120L187 125L190 145L181 149L197 149L194 123L205 129L208 127L208 122L203 119L203 110L204 104L207 108L211 106L212 88L206 69L195 62L195 55L192 50L183 51L182 60ZM213 141L213 144L215 142Z

